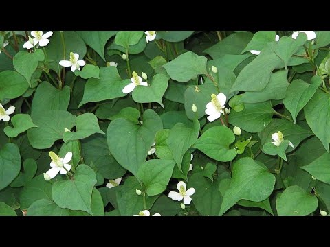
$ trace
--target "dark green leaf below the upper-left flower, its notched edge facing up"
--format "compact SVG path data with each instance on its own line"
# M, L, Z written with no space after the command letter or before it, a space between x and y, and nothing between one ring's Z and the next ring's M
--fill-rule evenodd
M56 89L50 82L41 82L32 101L31 117L49 110L67 110L70 102L70 88Z

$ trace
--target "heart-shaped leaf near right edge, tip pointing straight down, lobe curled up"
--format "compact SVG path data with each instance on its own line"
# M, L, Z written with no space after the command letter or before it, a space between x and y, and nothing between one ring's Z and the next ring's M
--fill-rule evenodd
M294 80L287 88L283 104L291 113L294 123L296 123L296 118L300 110L303 109L309 102L309 99L313 97L321 83L321 78L319 76L314 76L311 78L311 84L298 79Z

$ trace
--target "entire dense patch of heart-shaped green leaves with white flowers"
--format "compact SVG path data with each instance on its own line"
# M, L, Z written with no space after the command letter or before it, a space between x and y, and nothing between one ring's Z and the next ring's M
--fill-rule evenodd
M329 44L0 31L0 215L327 215Z

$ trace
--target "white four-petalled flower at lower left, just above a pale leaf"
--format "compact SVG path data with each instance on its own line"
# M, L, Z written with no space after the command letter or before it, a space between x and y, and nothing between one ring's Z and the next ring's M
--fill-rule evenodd
M58 172L61 172L61 174L67 174L67 170L69 171L71 169L71 165L68 163L72 159L72 152L67 152L64 158L61 158L54 152L50 151L50 158L52 159L52 162L50 163L52 168L48 170L46 174L50 176L51 179L54 178Z

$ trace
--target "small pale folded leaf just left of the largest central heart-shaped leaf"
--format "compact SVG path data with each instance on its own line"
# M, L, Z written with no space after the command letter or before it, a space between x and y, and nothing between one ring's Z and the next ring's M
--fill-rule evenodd
M76 117L76 132L65 132L63 141L84 139L96 133L104 134L98 126L98 118L93 113L85 113Z

